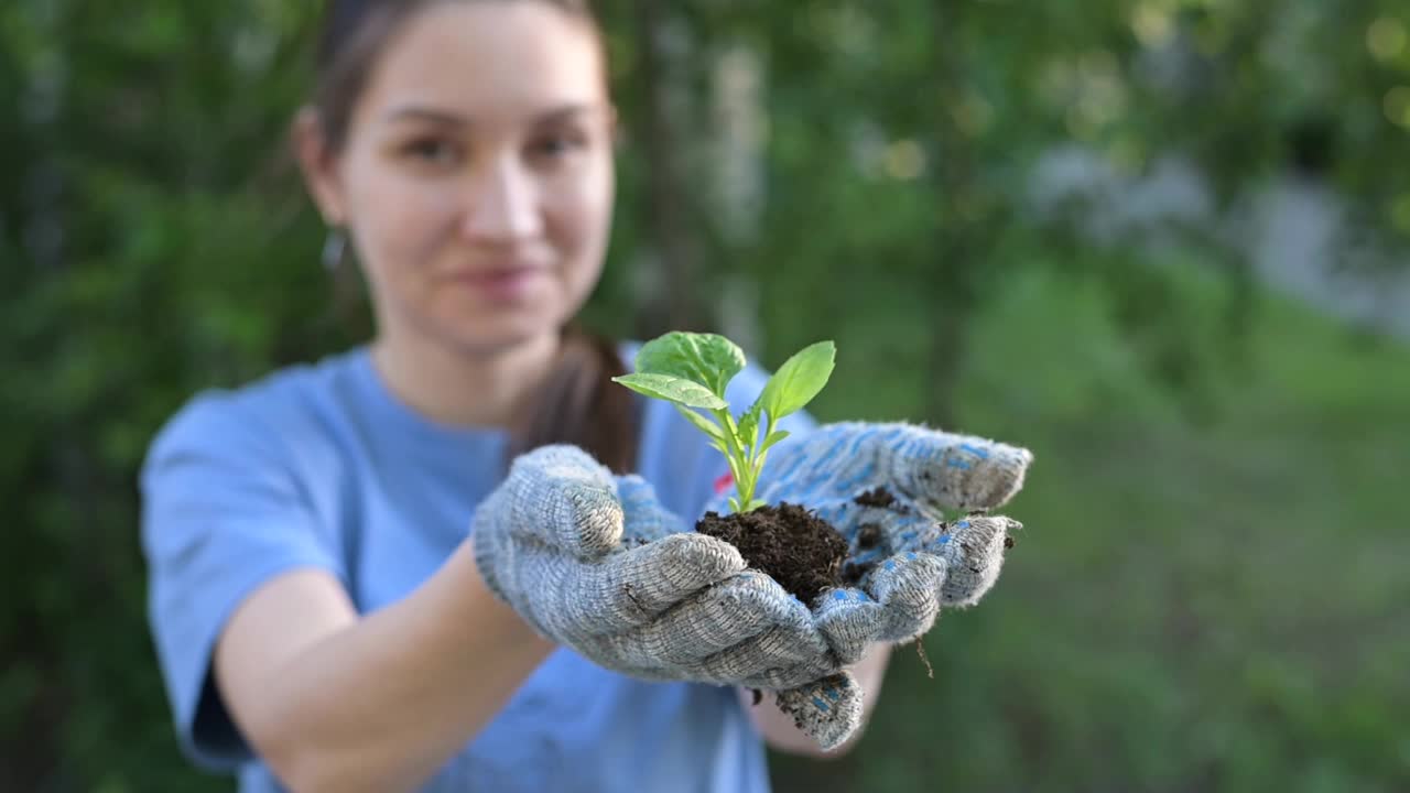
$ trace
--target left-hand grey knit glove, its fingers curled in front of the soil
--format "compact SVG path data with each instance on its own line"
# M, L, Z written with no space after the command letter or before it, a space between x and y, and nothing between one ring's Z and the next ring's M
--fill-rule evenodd
M623 674L778 689L826 673L808 608L735 546L687 532L636 476L574 446L517 457L472 522L489 590Z

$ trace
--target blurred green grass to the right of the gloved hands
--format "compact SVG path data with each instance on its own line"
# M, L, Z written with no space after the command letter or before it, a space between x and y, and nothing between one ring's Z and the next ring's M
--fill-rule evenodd
M1410 346L1261 301L1242 356L1191 325L1227 361L1191 413L1100 282L1010 279L950 429L1035 452L1026 528L935 679L898 648L857 751L777 790L1410 789ZM924 315L885 316L839 326L821 418L918 415Z

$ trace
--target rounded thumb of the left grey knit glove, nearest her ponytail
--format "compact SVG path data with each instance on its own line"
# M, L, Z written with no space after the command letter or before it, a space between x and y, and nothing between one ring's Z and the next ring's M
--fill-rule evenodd
M520 454L479 515L508 519L508 529L580 559L598 559L622 538L622 504L612 473L577 446L541 446ZM508 507L508 509L505 509Z

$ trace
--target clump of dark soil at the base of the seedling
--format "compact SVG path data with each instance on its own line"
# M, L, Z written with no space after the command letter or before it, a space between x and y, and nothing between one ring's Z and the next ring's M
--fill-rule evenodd
M843 583L847 540L830 523L797 504L729 515L706 512L695 531L733 545L750 567L767 573L805 604L811 605L823 590Z

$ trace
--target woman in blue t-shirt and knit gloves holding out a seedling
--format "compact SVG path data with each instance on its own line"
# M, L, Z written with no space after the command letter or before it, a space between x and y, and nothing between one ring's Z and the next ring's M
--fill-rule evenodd
M376 334L200 394L152 443L149 612L188 755L247 793L764 793L766 742L854 745L890 643L976 603L1017 525L952 538L921 505L998 507L1031 456L818 429L804 371L778 392L732 357L711 406L764 405L742 436L788 439L759 500L830 509L843 545L859 521L890 538L847 557L856 580L790 595L689 531L729 460L613 381L646 346L570 330L615 189L585 6L338 0L327 31L293 140ZM737 507L761 466L736 464ZM859 487L900 507L856 509Z

